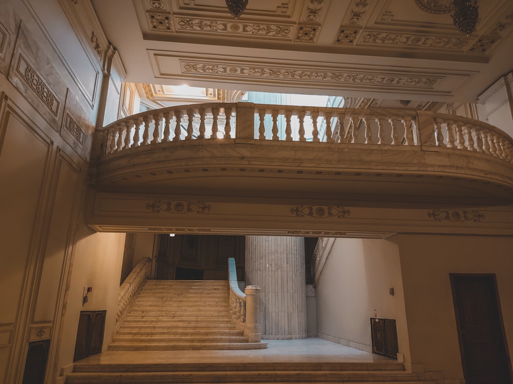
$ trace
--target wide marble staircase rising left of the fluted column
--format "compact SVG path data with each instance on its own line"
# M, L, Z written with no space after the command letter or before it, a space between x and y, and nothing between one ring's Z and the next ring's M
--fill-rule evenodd
M226 281L148 280L110 351L261 349L231 323Z

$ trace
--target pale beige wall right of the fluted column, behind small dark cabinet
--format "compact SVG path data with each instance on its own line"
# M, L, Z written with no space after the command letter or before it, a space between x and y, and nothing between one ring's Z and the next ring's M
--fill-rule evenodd
M394 295L389 294L389 288ZM317 281L322 336L370 351L370 317L396 319L399 352L408 359L399 249L385 240L337 239ZM334 340L336 341L336 340Z

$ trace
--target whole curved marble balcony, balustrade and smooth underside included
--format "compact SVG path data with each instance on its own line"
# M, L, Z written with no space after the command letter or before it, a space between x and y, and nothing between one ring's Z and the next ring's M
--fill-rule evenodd
M510 204L513 140L459 116L253 103L173 106L96 132L92 183L125 193Z

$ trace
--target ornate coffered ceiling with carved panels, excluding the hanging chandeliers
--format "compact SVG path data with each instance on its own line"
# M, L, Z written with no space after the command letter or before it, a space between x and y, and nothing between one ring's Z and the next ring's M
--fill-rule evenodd
M513 2L481 0L475 33L449 0L92 0L128 81L211 89L475 101L513 70Z

